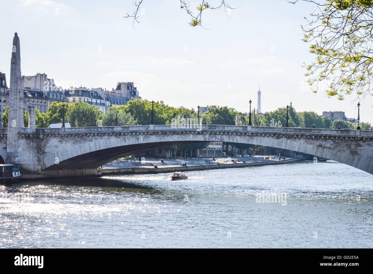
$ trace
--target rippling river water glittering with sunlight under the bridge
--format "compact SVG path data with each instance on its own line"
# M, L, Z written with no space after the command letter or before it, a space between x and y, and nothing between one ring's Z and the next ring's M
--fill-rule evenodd
M373 247L364 171L305 161L187 175L0 185L0 247Z

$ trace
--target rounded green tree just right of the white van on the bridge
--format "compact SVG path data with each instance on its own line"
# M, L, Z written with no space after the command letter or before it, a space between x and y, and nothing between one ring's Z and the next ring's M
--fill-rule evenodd
M97 126L100 114L102 114L102 111L98 110L97 107L79 100L70 105L67 117L72 127L89 127Z

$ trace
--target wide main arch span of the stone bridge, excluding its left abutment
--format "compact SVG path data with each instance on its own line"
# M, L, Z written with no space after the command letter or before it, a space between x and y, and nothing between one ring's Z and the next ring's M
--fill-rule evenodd
M79 133L79 130L74 128L65 129L66 131L60 133L62 136L58 138L60 142L58 147L69 147L69 149L56 149L53 138L50 141L46 140L41 170L95 169L123 155L151 148L192 142L223 141L288 149L328 158L373 173L371 161L373 135L364 138L346 131L343 133L350 133L350 135L341 134L339 130L317 131L270 127L253 127L248 130L246 126L209 125L204 126L201 131L172 129L170 126L156 126L156 128L158 129L150 130L149 126L125 129L107 127L95 128L95 131L89 133L87 131ZM89 128L85 128L87 129ZM43 134L50 135L45 129ZM53 149L50 149L52 147ZM361 157L370 160L362 161Z

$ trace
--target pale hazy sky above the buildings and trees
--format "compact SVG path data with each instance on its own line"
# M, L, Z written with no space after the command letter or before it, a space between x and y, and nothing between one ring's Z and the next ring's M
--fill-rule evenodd
M198 1L191 1L195 10ZM209 1L216 6L219 0ZM178 0L143 0L140 24L132 27L132 0L2 1L0 70L9 85L14 32L21 41L23 75L47 73L63 88L115 88L135 83L142 98L175 107L228 105L247 112L286 106L297 111L345 111L357 118L354 96L345 101L314 94L304 83L302 63L314 56L301 41L304 16L312 4L286 0L228 0L223 10L207 10L204 27L192 28ZM372 97L361 101L363 122L373 122Z

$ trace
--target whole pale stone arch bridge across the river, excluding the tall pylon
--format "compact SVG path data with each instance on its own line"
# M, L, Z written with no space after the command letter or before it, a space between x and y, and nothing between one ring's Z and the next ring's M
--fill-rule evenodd
M17 133L11 154L7 152L7 130L0 129L0 161L12 161L29 179L100 175L103 164L125 155L203 141L289 149L373 174L373 132L368 130L224 125L202 125L200 129L170 125L24 128Z

